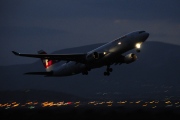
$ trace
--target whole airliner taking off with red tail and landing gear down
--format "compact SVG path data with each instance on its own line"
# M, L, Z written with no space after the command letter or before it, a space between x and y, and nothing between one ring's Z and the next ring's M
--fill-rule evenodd
M136 54L123 54L132 49L135 49L139 53L142 43L148 37L149 33L144 30L133 31L87 53L47 54L44 50L38 51L37 54L12 52L17 56L41 59L46 71L25 73L29 75L44 75L45 77L71 76L79 73L88 75L88 72L92 69L107 66L104 76L109 76L113 71L110 67L111 65L129 64L136 61ZM59 64L60 61L64 61L64 63Z

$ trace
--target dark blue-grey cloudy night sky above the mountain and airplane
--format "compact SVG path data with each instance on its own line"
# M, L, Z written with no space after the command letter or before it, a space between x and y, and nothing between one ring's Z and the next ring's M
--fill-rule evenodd
M32 63L37 53L104 43L145 30L148 41L180 45L179 0L1 0L0 65Z

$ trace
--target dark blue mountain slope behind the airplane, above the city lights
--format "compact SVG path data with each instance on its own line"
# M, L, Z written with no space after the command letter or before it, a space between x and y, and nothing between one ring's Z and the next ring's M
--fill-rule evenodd
M102 44L68 48L53 53L82 53ZM91 99L178 99L179 51L178 45L145 42L140 53L129 51L138 56L137 61L112 65L113 72L110 76L103 75L106 67L91 70L89 75L78 74L69 77L24 75L25 72L44 71L38 59L32 64L1 66L0 90L49 90Z

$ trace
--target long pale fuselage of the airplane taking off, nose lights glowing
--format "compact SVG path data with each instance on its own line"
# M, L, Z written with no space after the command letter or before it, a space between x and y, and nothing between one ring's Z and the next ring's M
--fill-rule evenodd
M94 68L110 66L114 64L123 53L137 48L136 44L142 44L148 36L149 33L145 31L136 31L126 34L87 53L87 55L93 54L94 52L102 53L103 57L85 64L74 61L66 62L53 70L53 76L69 76L83 72L87 73ZM137 50L139 49L137 48Z

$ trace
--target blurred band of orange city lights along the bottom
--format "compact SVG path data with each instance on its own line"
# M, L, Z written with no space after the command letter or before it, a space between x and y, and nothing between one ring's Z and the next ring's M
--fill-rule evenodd
M19 103L16 101L0 103L0 109L15 109L15 108L27 108L27 109L36 109L36 108L50 108L50 107L63 107L63 106L71 106L71 107L81 107L81 106L136 106L136 107L149 107L151 109L162 108L162 107L180 107L179 101L160 101L160 100L151 100L151 101L89 101L89 102L81 102L81 101L45 101L45 102L37 102L37 101L28 101L26 103Z

